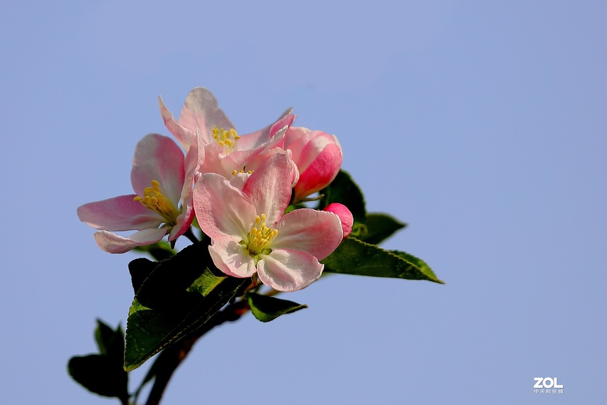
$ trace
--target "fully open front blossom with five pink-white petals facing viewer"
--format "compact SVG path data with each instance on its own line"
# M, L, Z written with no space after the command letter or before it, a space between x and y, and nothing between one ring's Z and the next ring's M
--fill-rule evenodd
M200 228L211 237L217 268L251 277L279 291L300 290L316 281L319 260L341 243L333 213L302 208L283 215L291 196L288 155L276 153L246 180L242 190L221 175L203 174L194 186Z

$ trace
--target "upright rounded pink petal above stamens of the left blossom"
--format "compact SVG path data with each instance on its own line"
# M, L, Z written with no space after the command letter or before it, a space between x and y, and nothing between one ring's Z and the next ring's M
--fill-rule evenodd
M185 178L183 152L169 137L148 134L135 147L131 183L138 196L152 185L152 180L160 183L160 188L177 206Z

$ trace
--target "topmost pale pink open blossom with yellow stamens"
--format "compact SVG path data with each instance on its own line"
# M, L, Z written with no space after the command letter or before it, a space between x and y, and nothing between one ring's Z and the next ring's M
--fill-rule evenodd
M205 151L200 172L218 173L225 177L229 177L234 170L248 169L248 162L266 149L282 147L285 131L295 120L295 115L289 109L274 124L240 136L219 108L214 95L203 87L189 92L178 120L175 120L161 97L158 97L158 103L166 128L186 151L198 133L199 149Z

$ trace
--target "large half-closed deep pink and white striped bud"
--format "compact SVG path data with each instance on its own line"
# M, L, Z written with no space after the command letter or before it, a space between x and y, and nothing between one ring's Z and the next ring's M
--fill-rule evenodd
M293 161L299 169L294 202L325 188L341 168L342 149L335 135L292 126L287 130L283 148L293 151Z

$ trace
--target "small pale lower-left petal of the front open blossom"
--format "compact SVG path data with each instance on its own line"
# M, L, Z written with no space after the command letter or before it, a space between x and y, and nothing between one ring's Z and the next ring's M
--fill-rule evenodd
M253 257L231 237L215 237L209 246L213 263L233 277L251 277L257 271Z

